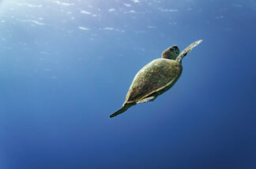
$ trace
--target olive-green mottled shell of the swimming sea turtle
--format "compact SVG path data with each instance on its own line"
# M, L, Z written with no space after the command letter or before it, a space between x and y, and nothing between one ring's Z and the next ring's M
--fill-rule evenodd
M177 61L164 58L151 61L135 75L124 105L137 103L151 96L155 99L165 88L174 85L182 71L183 67Z

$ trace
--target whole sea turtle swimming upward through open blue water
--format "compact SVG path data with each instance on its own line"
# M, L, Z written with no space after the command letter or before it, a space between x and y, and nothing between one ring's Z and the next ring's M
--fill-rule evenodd
M130 85L122 108L111 114L110 117L112 118L125 112L137 103L153 101L160 94L169 90L183 72L183 57L195 46L198 46L201 41L193 42L180 54L178 46L171 46L164 50L161 58L155 59L141 68Z

